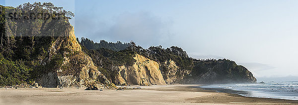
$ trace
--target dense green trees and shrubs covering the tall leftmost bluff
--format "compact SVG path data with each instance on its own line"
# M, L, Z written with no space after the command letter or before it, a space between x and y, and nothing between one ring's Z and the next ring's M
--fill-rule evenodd
M64 59L60 52L49 60L50 47L61 36L62 29L69 27L72 12L47 2L0 7L1 86L31 83L62 65ZM32 18L30 13L35 13ZM38 13L52 14L53 18L38 17Z

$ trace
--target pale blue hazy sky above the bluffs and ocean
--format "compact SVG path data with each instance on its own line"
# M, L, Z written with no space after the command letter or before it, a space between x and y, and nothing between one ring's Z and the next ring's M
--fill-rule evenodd
M198 58L228 58L256 77L298 76L298 0L50 1L74 11L76 37L182 47ZM3 1L0 2L3 4Z

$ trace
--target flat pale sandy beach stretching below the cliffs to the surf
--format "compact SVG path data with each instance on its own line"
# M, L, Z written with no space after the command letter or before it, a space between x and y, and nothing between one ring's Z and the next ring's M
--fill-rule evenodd
M298 101L250 98L191 88L198 85L128 86L141 89L87 91L85 88L1 88L1 105L298 105Z

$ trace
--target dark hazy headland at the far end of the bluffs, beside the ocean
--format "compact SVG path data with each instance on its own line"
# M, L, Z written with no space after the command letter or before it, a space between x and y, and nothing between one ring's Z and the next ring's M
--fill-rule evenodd
M256 78L245 67L230 60L195 61L183 84L255 83Z

